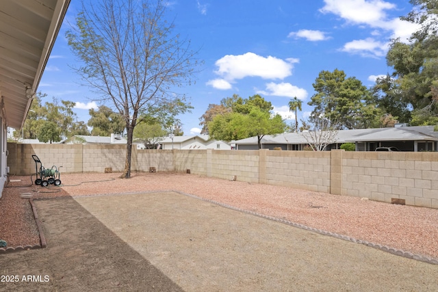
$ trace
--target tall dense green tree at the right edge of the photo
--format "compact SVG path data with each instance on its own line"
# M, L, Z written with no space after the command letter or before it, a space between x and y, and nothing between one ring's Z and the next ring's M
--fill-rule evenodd
M387 64L394 68L404 102L413 107L411 124L435 124L437 99L433 90L438 79L438 3L411 0L413 10L402 20L420 25L409 43L391 42Z

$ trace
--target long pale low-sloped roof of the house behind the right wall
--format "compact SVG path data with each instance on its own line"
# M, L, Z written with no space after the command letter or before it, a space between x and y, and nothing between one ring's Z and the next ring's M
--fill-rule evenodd
M438 132L433 130L434 126L340 130L337 131L334 143L396 140L438 141ZM307 140L304 136L305 133L306 132L264 135L261 142L263 144L307 144ZM233 141L233 143L240 145L257 144L257 136L236 140Z

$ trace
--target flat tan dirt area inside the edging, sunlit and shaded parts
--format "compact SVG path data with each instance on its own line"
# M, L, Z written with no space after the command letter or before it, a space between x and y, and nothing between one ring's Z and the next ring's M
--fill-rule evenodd
M172 191L35 200L47 248L3 291L433 291L438 265Z

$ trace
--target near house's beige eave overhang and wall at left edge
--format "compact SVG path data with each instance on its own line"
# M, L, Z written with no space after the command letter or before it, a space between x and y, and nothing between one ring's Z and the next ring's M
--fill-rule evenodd
M21 130L70 0L1 0L0 196L6 181L8 127Z

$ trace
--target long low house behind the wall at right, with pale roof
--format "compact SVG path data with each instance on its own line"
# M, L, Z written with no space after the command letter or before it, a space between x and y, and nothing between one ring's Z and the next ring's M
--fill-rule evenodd
M337 131L333 143L326 150L339 149L344 143L354 143L357 151L374 151L377 147L394 146L400 151L437 151L438 131L434 126L395 127L378 129L355 129ZM261 148L281 150L304 150L309 142L306 133L283 133L265 135ZM237 150L257 150L257 137L233 141Z

